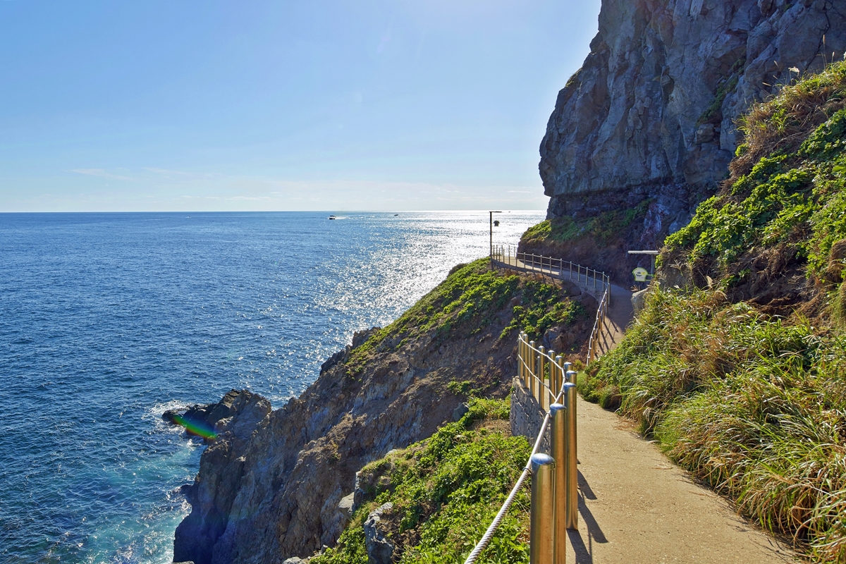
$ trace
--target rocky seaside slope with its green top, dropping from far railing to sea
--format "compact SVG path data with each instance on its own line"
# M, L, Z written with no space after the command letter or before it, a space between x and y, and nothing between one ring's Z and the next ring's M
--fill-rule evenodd
M264 564L332 546L360 468L430 436L469 394L508 392L519 329L579 356L596 300L577 287L492 272L487 260L453 270L393 324L333 355L283 408L229 398L243 415L210 422L217 436L189 487L174 561Z

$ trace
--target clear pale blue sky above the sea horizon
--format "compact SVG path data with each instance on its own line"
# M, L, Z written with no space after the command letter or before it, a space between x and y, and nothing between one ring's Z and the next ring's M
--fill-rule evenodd
M0 1L0 211L542 209L599 0Z

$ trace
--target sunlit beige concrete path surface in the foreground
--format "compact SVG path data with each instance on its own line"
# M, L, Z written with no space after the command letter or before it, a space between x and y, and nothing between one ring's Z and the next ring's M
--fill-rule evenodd
M615 413L579 402L579 531L568 564L775 564L794 554L694 484Z

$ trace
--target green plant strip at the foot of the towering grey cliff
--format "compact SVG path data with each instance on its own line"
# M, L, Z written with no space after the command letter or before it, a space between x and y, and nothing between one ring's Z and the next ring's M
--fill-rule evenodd
M558 217L538 223L523 233L524 244L566 243L576 238L590 236L601 247L610 244L635 220L642 220L652 200L643 200L628 210L606 211L596 217L574 219Z

